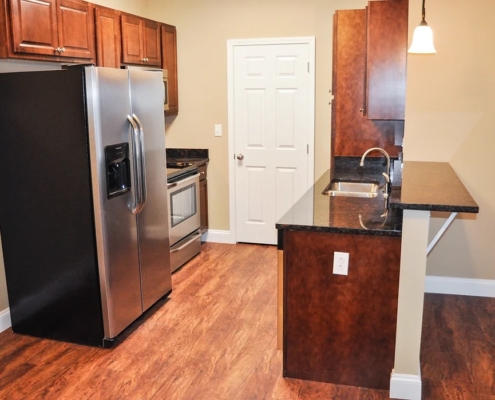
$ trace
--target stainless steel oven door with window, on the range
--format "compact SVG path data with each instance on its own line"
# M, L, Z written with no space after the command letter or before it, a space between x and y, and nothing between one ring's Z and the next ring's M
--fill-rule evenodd
M199 173L169 183L168 209L170 212L170 246L199 229Z

